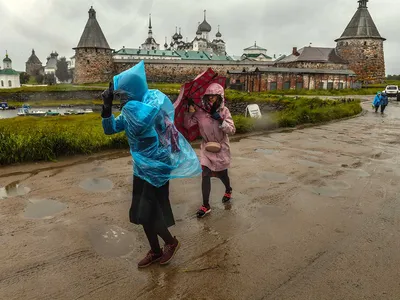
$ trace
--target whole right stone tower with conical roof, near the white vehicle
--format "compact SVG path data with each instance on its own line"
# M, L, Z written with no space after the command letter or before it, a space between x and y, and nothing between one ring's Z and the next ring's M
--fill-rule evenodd
M377 83L385 78L383 42L368 11L368 0L358 0L359 6L337 42L337 53L347 60L362 82Z

